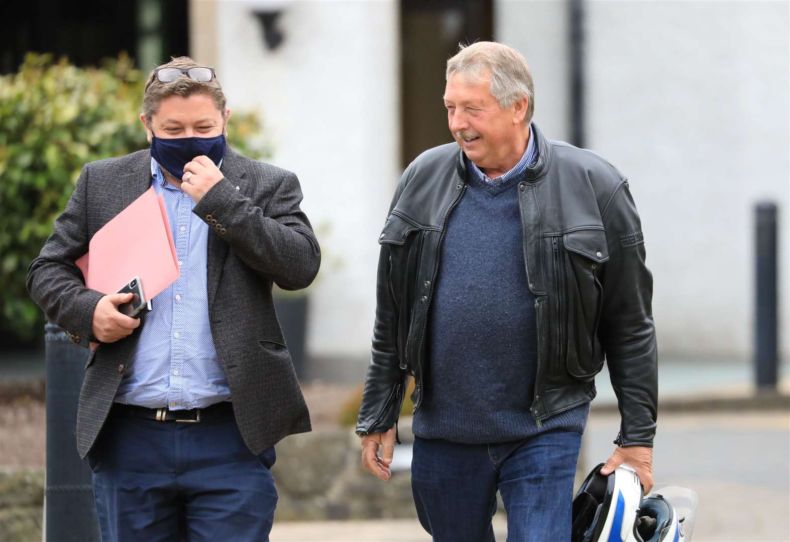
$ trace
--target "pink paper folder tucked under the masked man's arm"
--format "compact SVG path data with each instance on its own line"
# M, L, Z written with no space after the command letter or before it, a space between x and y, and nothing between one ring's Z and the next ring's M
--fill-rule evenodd
M85 286L102 293L116 293L133 277L146 301L170 286L179 278L179 256L162 196L148 189L96 232L75 264Z

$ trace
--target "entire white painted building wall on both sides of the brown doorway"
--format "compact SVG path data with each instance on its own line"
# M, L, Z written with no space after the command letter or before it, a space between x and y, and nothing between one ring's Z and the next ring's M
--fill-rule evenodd
M370 348L376 238L400 173L397 2L276 2L266 50L255 6L216 9L231 108L257 108L273 163L299 174L328 264L309 348ZM788 4L586 2L589 146L631 179L656 278L663 353L751 352L753 205L780 204L781 331L788 322ZM193 28L194 32L194 28ZM495 2L495 36L525 54L536 121L567 140L566 2ZM787 355L788 334L781 347Z

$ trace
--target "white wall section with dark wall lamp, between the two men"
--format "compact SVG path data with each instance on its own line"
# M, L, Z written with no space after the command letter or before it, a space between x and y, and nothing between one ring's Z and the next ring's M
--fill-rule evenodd
M279 6L265 48L254 9ZM260 111L270 160L299 175L324 263L311 287L308 349L370 353L378 234L400 175L397 2L222 2L217 75L231 114ZM195 32L195 29L192 29ZM329 231L324 231L329 226ZM342 260L341 267L333 260Z

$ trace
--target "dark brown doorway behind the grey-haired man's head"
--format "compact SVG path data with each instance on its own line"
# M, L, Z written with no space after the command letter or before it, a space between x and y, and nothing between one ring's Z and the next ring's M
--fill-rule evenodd
M458 43L493 39L492 0L401 0L402 166L453 140L442 105Z

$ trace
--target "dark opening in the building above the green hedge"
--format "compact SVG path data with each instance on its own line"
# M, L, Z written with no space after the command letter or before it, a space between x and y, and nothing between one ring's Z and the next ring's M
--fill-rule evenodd
M137 66L189 53L187 0L28 0L6 2L0 17L0 73L16 72L24 54L54 53L78 66L126 51Z

